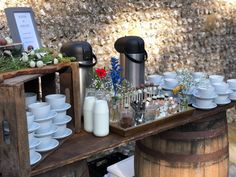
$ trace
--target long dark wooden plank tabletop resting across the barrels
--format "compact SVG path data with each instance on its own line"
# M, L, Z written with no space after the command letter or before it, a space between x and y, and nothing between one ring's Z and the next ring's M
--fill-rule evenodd
M49 170L53 170L64 165L72 164L96 153L113 149L130 141L143 139L150 135L154 135L162 131L172 129L180 125L207 118L209 116L218 114L219 112L226 111L226 109L231 108L235 105L236 102L232 102L230 104L218 106L217 108L208 111L195 110L192 116L187 117L182 117L181 115L178 115L177 117L171 119L168 122L165 122L160 126L151 129L146 129L143 132L139 132L127 137L122 137L120 135L110 133L106 137L98 138L92 135L91 133L86 133L82 131L81 133L75 134L71 138L69 138L69 140L66 141L50 157L45 159L36 168L32 169L31 176L45 173Z

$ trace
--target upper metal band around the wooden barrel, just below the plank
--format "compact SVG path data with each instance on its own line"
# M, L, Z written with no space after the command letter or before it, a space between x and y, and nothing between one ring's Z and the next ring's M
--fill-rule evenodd
M163 139L172 139L172 140L196 140L196 139L214 138L226 132L227 132L227 126L222 126L207 131L194 131L194 132L166 131L161 133L160 137Z

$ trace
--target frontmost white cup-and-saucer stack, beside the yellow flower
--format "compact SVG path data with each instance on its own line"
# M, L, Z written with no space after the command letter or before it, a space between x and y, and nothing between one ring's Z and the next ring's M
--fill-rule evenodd
M214 99L217 97L214 87L197 87L193 96L195 97L193 107L198 109L213 109L217 106Z

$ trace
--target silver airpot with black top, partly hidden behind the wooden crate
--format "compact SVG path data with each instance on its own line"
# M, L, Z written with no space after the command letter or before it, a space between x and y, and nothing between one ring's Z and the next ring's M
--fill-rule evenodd
M61 47L61 53L68 57L75 57L79 62L80 76L80 110L83 112L85 89L92 83L92 70L97 63L91 45L86 41L68 42Z

